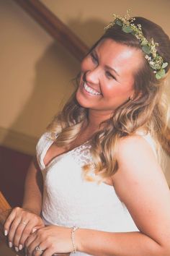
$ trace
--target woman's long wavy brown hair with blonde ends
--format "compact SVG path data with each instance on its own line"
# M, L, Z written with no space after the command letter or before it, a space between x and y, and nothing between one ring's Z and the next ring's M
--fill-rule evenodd
M143 17L135 17L134 23L142 26L143 35L148 40L153 38L159 44L158 54L163 57L164 62L170 64L170 40L164 30ZM114 25L97 40L89 53L104 38L111 38L117 43L141 49L139 40L134 35L124 33L119 25ZM166 67L166 77L168 73L169 65ZM84 176L88 180L92 179L89 175L91 168L101 180L115 174L118 168L116 153L120 138L134 135L141 127L146 133L151 134L156 145L161 143L167 151L169 150L169 141L166 140L168 106L164 90L166 77L156 80L144 53L143 64L134 76L135 97L133 101L119 106L112 117L104 121L104 129L100 129L91 137L91 155L94 163L84 166ZM48 131L51 132L51 137L58 147L68 146L79 135L82 124L87 118L88 109L79 105L76 101L76 92L74 92L63 111L57 114L49 124Z

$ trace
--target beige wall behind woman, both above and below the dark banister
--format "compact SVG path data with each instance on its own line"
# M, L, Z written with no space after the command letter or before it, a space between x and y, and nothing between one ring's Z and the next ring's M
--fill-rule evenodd
M102 35L113 12L129 8L170 35L169 0L41 1L88 46ZM71 94L79 62L14 1L0 0L0 20L0 142L33 153L36 138Z

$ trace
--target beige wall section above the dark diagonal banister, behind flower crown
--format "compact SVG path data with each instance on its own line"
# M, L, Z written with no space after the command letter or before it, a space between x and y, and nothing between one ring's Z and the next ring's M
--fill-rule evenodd
M89 46L112 20L112 13L143 16L158 23L170 35L169 0L40 0Z

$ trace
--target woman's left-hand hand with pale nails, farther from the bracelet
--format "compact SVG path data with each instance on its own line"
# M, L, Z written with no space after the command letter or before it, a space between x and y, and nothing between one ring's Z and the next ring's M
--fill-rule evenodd
M24 247L28 236L43 226L42 218L31 210L14 208L4 223L4 234L8 235L9 247L14 245L18 252Z

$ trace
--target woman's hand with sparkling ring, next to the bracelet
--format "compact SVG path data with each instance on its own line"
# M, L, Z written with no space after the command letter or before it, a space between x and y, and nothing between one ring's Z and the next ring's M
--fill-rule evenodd
M72 251L71 229L63 226L46 226L38 229L25 242L27 256L39 256L42 253L43 256L51 256Z

